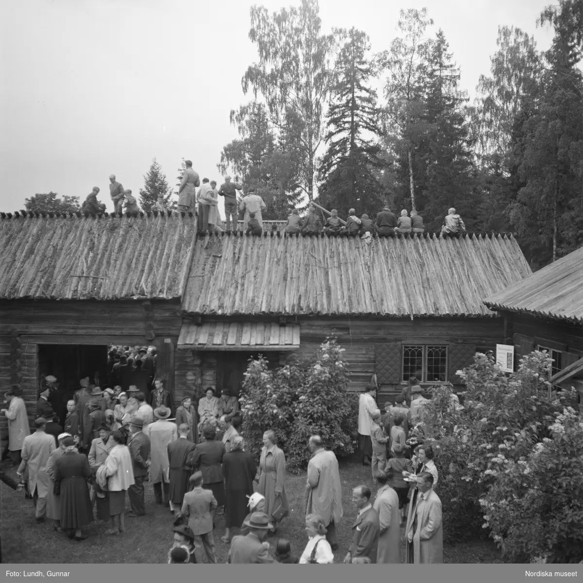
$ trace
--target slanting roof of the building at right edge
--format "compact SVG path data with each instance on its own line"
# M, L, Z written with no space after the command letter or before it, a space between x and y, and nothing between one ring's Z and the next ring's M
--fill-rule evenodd
M583 324L583 247L487 297L484 303L491 310Z

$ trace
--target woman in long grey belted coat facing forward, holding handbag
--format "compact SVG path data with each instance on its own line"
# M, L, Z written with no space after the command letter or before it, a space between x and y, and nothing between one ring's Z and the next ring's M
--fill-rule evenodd
M289 514L289 503L286 494L286 458L283 451L275 443L275 432L265 431L263 434L263 448L261 449L261 459L259 460L259 486L257 491L265 496L265 514L273 519L273 523L278 522L273 517L273 512L283 507L283 515L279 517L281 521Z

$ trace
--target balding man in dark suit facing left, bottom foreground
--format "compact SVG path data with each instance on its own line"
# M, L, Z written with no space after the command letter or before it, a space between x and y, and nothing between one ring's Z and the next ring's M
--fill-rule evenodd
M344 563L352 563L357 557L368 557L371 563L377 562L381 525L370 498L371 493L366 486L358 486L352 491L352 504L359 509L359 515L352 525L352 543Z

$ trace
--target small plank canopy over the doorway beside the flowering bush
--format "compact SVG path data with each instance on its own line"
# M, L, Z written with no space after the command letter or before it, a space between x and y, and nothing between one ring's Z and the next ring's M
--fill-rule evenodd
M297 350L300 347L300 326L280 326L275 322L185 322L180 330L178 348L187 347L250 352Z

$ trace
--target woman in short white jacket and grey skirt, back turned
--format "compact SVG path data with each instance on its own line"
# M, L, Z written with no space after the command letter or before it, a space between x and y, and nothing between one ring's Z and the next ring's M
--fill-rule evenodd
M115 442L105 463L108 498L110 502L111 527L107 535L118 535L125 531L124 511L125 492L135 483L132 459L129 449L124 445L124 435L120 430L114 431L111 436ZM115 519L117 518L117 528Z

